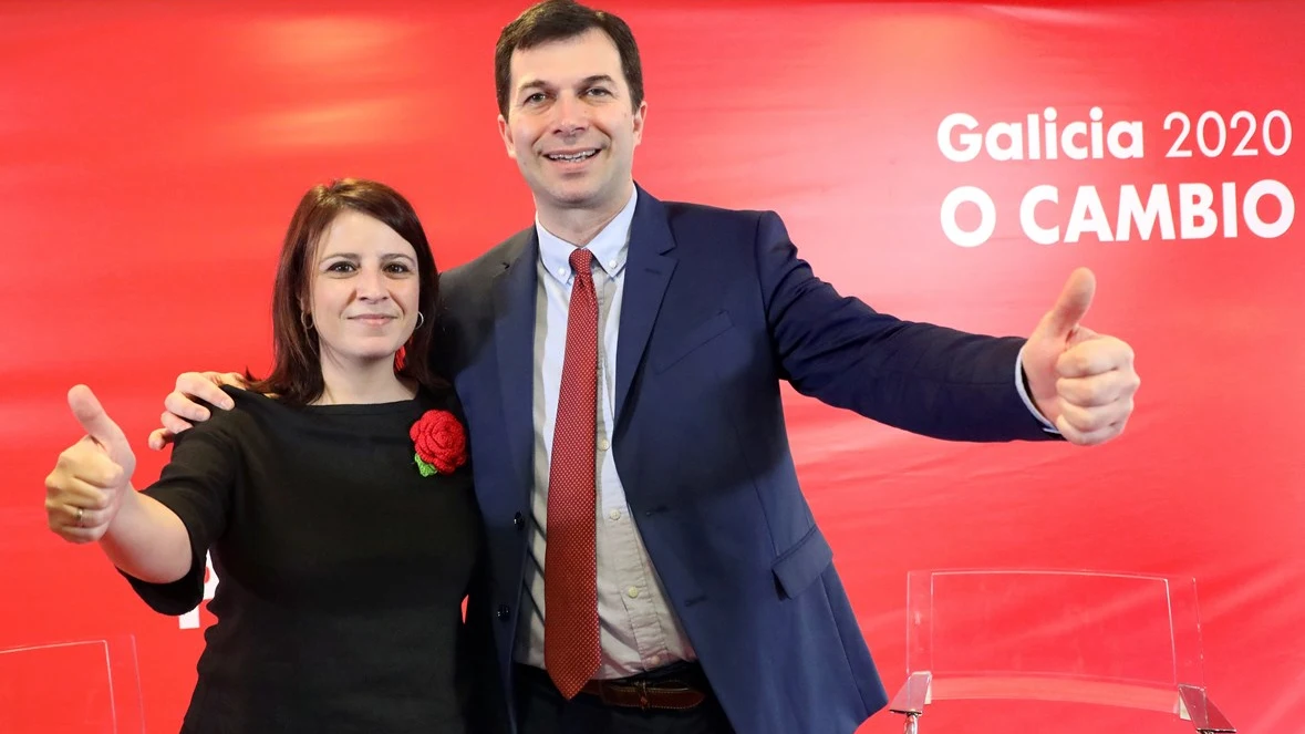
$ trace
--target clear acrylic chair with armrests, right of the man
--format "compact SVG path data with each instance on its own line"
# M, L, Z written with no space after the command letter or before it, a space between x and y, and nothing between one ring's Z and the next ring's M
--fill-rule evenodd
M1039 700L1167 712L1233 731L1206 699L1195 581L1065 571L919 571L893 710Z

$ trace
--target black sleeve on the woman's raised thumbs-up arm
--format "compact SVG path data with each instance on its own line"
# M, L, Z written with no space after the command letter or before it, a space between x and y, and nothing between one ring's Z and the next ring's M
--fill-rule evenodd
M191 537L191 569L181 579L153 584L123 573L141 599L161 614L181 615L200 605L205 556L226 530L239 449L230 432L230 414L210 410L213 418L177 435L158 481L141 490L176 513Z

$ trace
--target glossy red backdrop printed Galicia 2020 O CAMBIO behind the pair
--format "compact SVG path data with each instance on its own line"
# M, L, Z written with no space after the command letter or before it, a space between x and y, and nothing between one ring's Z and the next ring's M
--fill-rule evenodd
M202 645L95 549L44 529L42 478L78 438L69 385L90 384L138 441L144 486L166 460L144 439L179 372L266 366L274 259L311 184L398 187L444 268L530 223L491 71L521 4L445 5L0 4L0 650L23 648L0 653L0 730L112 731L85 692L107 654L117 730L172 731ZM1177 573L1197 579L1224 713L1242 731L1305 730L1305 236L1291 199L1305 167L1288 135L1305 124L1305 4L608 5L645 55L636 176L654 195L775 209L844 293L977 332L1027 334L1088 265L1087 324L1138 353L1137 413L1096 449L932 441L791 396L808 496L890 692L910 569ZM1010 127L972 161L945 153L966 129L940 145L954 114L984 133L1054 108L1060 142L1094 107L1100 157L1091 125L1069 140L1086 159L1001 159ZM1112 154L1111 140L1137 152L1124 128L1141 129L1141 157ZM1258 182L1276 185L1244 209ZM946 234L960 187L992 202L976 246ZM1030 201L1054 236L1021 225L1030 191L1054 193ZM1158 218L1122 238L1130 192ZM980 230L979 210L960 205L957 231ZM42 646L86 640L108 643ZM1006 730L996 704L933 709L927 731ZM1107 714L1074 716L1062 730ZM1107 721L1190 730L1138 716ZM899 727L883 713L864 730Z

